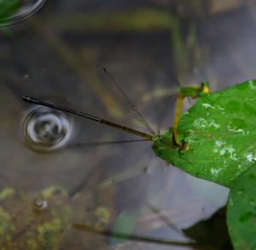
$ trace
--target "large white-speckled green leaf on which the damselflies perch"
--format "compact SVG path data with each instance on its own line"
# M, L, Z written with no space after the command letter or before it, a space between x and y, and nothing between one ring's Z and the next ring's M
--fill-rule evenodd
M256 160L256 80L199 98L179 119L178 152L172 131L155 137L154 152L189 174L230 187Z

